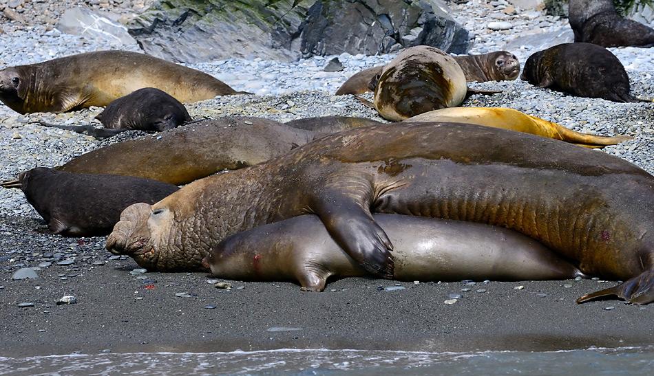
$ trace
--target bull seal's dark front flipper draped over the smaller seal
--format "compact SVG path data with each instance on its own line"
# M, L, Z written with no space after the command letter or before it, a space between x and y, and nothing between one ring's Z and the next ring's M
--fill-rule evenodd
M315 205L315 213L336 243L364 269L393 277L393 245L370 210L350 197L326 195Z

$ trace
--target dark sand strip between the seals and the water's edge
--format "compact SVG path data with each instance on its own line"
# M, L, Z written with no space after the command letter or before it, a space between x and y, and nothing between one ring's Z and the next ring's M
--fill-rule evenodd
M204 273L132 275L138 265L131 258L107 260L112 255L103 249L104 238L43 235L32 230L37 226L35 219L0 217L0 356L107 349L547 351L654 344L653 305L575 303L613 282L401 283L403 290L378 291L395 283L349 278L330 283L324 293L302 292L292 283L236 281L231 290L221 290L208 284L211 277ZM54 263L36 280L12 280L17 264L36 266L48 252L74 254L75 262ZM96 261L106 263L92 265ZM524 289L514 289L520 285ZM177 297L180 292L194 296ZM448 294L463 299L446 305ZM76 296L78 303L56 306L64 295ZM19 308L20 302L34 307ZM300 330L269 330L280 327Z

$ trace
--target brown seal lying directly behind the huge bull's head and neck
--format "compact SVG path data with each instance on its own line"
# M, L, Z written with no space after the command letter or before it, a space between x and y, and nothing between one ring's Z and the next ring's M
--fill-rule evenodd
M224 169L267 161L318 136L261 118L202 120L156 136L98 148L57 169L144 177L179 186Z

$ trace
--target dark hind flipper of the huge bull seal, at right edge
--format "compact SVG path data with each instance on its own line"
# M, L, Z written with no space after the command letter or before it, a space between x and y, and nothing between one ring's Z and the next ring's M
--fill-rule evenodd
M577 303L587 302L602 296L618 296L628 302L646 305L654 302L654 269L646 270L615 287L609 287L577 299Z

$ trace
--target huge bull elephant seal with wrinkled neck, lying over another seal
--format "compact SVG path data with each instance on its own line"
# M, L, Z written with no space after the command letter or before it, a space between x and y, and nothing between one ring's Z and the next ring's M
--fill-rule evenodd
M410 214L516 230L584 274L630 283L654 274L653 197L654 177L613 155L474 124L384 124L130 206L106 247L184 255L178 268L227 236L313 213L357 263L392 278L393 245L371 213ZM654 300L651 283L633 291L631 302Z

